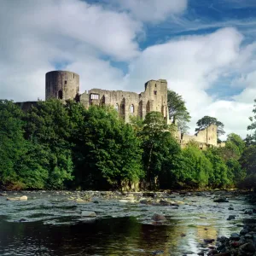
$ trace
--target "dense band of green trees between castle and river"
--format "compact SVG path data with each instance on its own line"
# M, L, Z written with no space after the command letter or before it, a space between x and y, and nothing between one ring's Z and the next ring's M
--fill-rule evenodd
M256 146L230 134L224 148L181 148L161 113L125 124L110 107L58 100L26 113L0 101L2 189L227 188L254 175ZM250 186L250 185L249 185Z

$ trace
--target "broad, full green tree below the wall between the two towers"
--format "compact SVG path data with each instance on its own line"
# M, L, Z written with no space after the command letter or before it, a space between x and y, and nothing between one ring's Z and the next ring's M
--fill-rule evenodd
M113 108L91 106L81 114L74 148L81 186L120 188L124 181L143 177L140 142L131 125Z

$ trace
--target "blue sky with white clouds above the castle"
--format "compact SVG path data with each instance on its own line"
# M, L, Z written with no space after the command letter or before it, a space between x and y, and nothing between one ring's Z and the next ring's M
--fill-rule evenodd
M44 100L45 73L141 92L166 79L196 122L247 135L256 98L255 0L1 0L0 98Z

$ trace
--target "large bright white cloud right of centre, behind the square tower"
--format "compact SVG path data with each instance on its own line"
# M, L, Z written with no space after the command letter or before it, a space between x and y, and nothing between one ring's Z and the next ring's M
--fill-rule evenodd
M252 102L238 98L236 102L214 101L206 93L221 75L232 73L237 62L247 60L247 51L241 48L242 39L236 29L225 28L205 36L188 36L154 45L132 62L127 80L133 84L133 90L140 90L137 84L145 80L167 79L169 88L187 102L192 116L191 132L195 131L198 119L210 115L224 123L227 133L233 131L245 136Z

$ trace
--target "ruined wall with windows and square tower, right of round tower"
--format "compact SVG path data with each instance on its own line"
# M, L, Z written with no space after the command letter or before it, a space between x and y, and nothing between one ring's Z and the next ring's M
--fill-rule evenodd
M89 108L90 105L111 105L125 122L129 122L130 116L144 119L151 111L161 112L166 122L169 122L166 80L148 81L145 90L140 94L123 90L92 89L81 94L79 101L85 108Z

